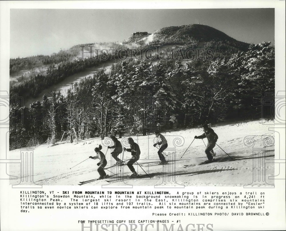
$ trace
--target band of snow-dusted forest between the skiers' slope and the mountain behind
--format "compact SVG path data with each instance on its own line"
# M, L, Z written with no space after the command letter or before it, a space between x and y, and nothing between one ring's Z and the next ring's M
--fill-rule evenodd
M66 96L53 92L29 108L10 104L10 119L17 123L23 118L21 125L10 126L10 139L37 135L51 143L62 139L74 142L260 118L263 94L275 92L275 49L269 45L252 44L246 52L200 63L191 60L182 64L178 59L152 65L146 59L124 60L114 64L110 73L102 70L73 84ZM59 80L80 71L80 64L65 62L51 70L53 74L35 76L23 90L13 88L12 92L20 95L31 88L28 94L37 94L40 83L48 85L56 81L50 78ZM25 142L28 138L23 145Z

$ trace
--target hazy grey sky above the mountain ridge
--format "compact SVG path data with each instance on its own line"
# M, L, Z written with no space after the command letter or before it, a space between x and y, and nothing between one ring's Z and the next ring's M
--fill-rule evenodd
M50 55L136 31L203 24L247 43L274 44L274 9L10 9L10 58Z

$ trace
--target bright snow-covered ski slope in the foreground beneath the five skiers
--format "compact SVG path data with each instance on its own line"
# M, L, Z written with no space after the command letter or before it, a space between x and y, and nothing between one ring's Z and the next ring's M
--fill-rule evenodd
M198 165L198 163L206 160L205 146L202 140L195 139L186 151L194 136L203 133L201 128L162 133L168 141L165 154L168 155L166 159L169 164L165 166L154 165L159 161L158 149L153 147L154 134L133 137L141 149L138 163L142 164L142 168L154 177L152 179L129 179L112 183L112 185L172 185L182 187L182 185L242 186L252 184L252 186L262 186L273 184L268 176L274 174L274 163L269 164L268 162L274 159L274 132L268 131L268 127L262 124L261 121L213 126L212 128L219 136L217 144L233 160L216 146L214 151L217 153L215 158L218 161L204 165ZM122 142L123 147L129 147L126 143L126 137L119 140ZM253 141L255 142L254 146L252 146ZM207 143L206 139L204 139L204 142ZM107 149L107 146L110 145L107 138L104 141L100 138L94 138L78 144L59 143L53 147L44 144L37 147L34 149L34 182L42 185L77 185L79 181L98 178L99 174L96 171L98 161L87 159L89 156L95 155L94 148L98 144L102 144L103 153L107 153L108 164L106 167L108 167L111 165L112 157L110 155L111 149ZM180 158L185 151L184 156ZM9 152L9 159L19 159L19 157L20 149ZM122 154L119 157L122 158ZM131 158L130 153L125 152L123 159L127 160L129 158ZM87 160L84 161L85 159ZM84 162L73 167L81 161ZM184 167L184 165L190 166ZM259 166L265 166L265 168ZM134 167L138 173L145 175L136 163ZM116 173L114 178L131 174L127 166L122 167L121 172L120 168L116 167L109 170ZM113 175L107 170L106 173ZM257 177L254 180L253 173ZM266 177L265 179L258 178L262 177L260 174L264 173L263 177ZM10 175L18 176L17 180L10 180L10 184L19 183L20 164L10 164ZM85 185L107 184L105 180L98 180Z

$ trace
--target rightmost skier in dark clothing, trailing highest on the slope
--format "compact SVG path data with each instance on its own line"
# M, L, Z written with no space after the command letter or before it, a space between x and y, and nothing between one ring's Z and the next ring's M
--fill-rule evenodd
M206 153L206 156L208 157L208 160L204 161L204 163L210 163L214 161L215 159L212 157L212 154L210 151L215 147L217 143L217 139L219 138L217 134L212 130L208 125L204 124L202 125L202 128L204 129L204 134L200 136L195 136L195 139L208 139L208 145L206 146L206 150L204 151Z

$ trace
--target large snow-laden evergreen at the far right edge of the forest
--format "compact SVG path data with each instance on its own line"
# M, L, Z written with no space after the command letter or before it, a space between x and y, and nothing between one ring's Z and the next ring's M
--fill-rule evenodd
M247 52L234 54L228 66L238 82L239 100L235 106L245 113L243 116L260 116L262 97L265 93L275 93L274 46L270 42L251 44Z

